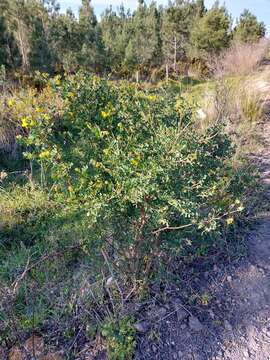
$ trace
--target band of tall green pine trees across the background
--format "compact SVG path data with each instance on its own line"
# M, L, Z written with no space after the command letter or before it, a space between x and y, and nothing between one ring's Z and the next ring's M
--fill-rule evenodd
M4 0L0 18L0 64L49 73L78 69L113 77L157 81L188 75L194 61L221 52L232 37L254 42L265 26L248 10L232 31L232 19L218 2L174 0L167 6L139 1L134 12L108 7L98 21L91 2L79 16L59 12L55 1Z

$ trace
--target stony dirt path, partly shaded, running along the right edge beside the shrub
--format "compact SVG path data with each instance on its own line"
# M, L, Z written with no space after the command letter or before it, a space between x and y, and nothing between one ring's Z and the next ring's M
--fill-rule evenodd
M270 100L270 85L261 79L256 86ZM263 136L264 150L255 156L270 201L270 120ZM193 293L205 298L205 310L183 307L177 289L168 305L155 305L161 316L142 336L138 360L270 360L270 212L258 215L247 247L244 260L195 279Z

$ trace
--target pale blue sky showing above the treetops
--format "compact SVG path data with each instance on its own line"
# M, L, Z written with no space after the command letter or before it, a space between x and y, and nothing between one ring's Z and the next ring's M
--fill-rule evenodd
M81 0L58 1L62 10L66 10L70 7L74 12L78 10L78 7L81 4ZM163 5L167 4L167 0L157 0L156 2ZM268 29L268 34L270 34L270 0L225 0L224 2L234 18L239 17L245 8L251 10L260 21L264 21ZM136 8L137 0L92 0L97 15L100 15L109 5L116 8L121 3L124 4L125 8L134 9ZM211 7L213 3L214 0L205 0L207 7ZM223 1L220 1L220 3L223 3Z

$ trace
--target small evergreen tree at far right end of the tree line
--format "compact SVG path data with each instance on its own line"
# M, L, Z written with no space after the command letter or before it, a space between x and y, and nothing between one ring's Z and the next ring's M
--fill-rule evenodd
M263 22L259 22L255 15L249 10L244 10L234 29L234 39L243 42L256 42L264 37L266 27Z

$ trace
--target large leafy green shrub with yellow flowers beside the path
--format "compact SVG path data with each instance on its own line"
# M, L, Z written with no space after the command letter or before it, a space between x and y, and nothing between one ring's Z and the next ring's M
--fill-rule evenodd
M84 217L93 258L109 247L117 268L138 279L242 209L228 191L230 141L221 126L197 133L183 100L83 74L55 91L60 117L51 108L26 118L26 156L55 199Z

